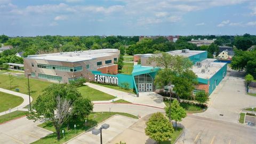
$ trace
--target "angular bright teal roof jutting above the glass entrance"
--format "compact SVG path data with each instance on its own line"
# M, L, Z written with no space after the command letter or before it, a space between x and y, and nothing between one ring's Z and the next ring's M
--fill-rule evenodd
M147 73L153 73L158 70L159 68L156 68L156 67L143 67L141 65L135 65L133 66L132 75L137 76L137 75L142 75Z

